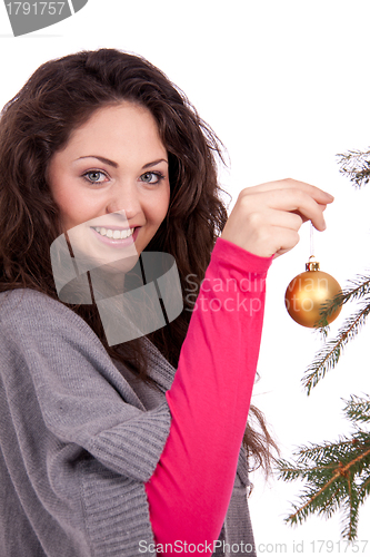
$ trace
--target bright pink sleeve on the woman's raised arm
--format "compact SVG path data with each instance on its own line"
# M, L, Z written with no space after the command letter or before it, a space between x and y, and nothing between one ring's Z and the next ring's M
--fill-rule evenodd
M216 242L166 394L170 434L146 485L157 544L197 545L220 535L247 424L271 261Z

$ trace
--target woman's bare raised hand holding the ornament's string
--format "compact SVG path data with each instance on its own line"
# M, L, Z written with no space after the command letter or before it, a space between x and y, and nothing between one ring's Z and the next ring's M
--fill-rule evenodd
M242 189L221 238L261 257L278 257L299 242L302 223L326 229L323 211L333 197L316 186L287 178Z

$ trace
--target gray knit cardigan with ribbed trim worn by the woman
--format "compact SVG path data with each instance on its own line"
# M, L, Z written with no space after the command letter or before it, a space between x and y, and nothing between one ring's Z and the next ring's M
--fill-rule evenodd
M154 555L144 482L169 434L176 370L144 343L158 390L60 302L0 294L1 557ZM214 555L256 555L247 486L241 450Z

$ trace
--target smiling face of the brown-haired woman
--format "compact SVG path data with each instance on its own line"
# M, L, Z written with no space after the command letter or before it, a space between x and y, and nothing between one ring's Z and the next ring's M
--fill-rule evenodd
M169 207L157 123L127 101L98 109L78 128L51 158L48 180L72 247L101 263L140 254Z

